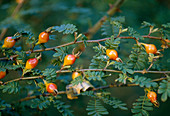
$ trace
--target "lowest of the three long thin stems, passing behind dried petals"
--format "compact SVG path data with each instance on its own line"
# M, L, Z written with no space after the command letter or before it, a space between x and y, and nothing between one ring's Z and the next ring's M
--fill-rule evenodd
M157 81L161 81L161 80L165 80L165 79L167 79L167 78L154 79L151 82L157 82ZM110 84L110 85L107 85L107 86L101 86L101 87L97 87L97 88L94 88L92 90L87 90L87 91L97 91L97 90L108 89L108 88L113 88L113 87L133 87L133 86L138 86L138 84L122 84L122 83L121 84ZM58 95L61 95L61 94L66 94L66 91L59 91ZM40 95L35 95L35 96L28 96L28 97L25 97L23 99L20 99L19 102L39 98L40 96L50 96L50 95L51 94L47 93L47 94L40 94Z

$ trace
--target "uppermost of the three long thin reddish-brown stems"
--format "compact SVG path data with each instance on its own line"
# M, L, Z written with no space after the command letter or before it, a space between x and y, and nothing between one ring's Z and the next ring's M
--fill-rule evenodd
M154 36L148 36L148 35L143 35L142 37L143 38L162 40L161 37L154 37ZM134 39L134 40L136 40L134 37L130 37L130 36L122 36L122 37L119 37L119 38L120 39ZM108 39L111 39L111 38L103 38L103 39L97 39L97 40L87 40L87 43L99 43L99 42L102 42L102 41L106 41ZM55 48L61 48L61 47L65 47L65 46L69 46L69 45L73 45L73 44L79 44L79 43L83 43L83 42L84 41L76 41L76 42L73 41L73 42L70 42L70 43L66 43L66 44L51 47L51 48L33 50L32 53L43 52L43 51L54 51ZM26 51L25 53L30 54L30 51ZM18 55L13 55L13 56L10 57L10 59L13 59L17 56ZM0 58L0 60L8 60L8 59L9 59L8 57Z

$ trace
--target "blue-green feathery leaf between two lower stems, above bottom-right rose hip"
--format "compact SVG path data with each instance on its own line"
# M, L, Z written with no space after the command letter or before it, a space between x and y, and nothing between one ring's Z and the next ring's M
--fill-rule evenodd
M152 82L150 78L139 77L138 75L134 76L132 83L138 84L140 87L147 87L147 88L158 87L158 84L156 82Z

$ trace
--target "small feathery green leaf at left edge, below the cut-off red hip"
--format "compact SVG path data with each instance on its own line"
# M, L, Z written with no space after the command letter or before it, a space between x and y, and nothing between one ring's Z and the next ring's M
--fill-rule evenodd
M18 82L10 82L6 85L1 85L0 89L2 89L3 93L8 92L9 94L15 94L19 91L19 85Z

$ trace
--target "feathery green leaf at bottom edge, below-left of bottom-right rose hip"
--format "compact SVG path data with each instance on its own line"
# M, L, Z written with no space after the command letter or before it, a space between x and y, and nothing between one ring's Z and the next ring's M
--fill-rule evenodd
M153 104L146 96L140 96L131 109L134 116L149 116L148 111L153 111Z

